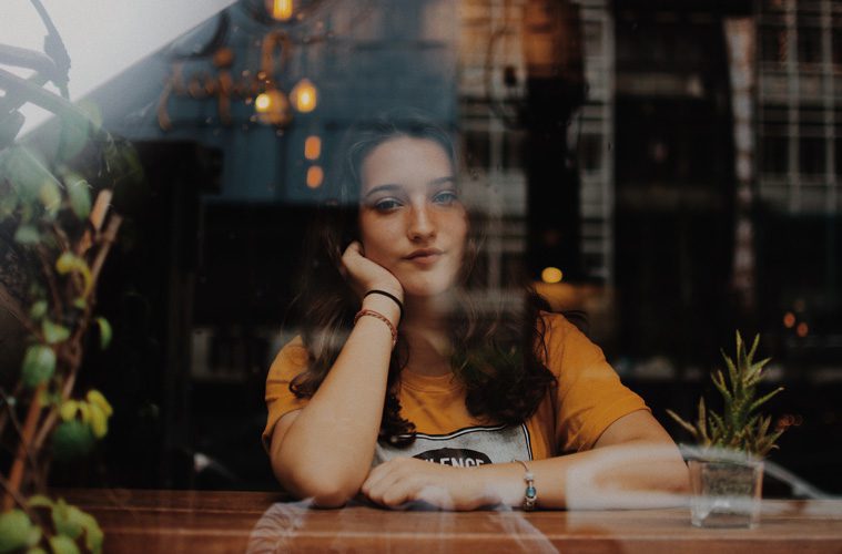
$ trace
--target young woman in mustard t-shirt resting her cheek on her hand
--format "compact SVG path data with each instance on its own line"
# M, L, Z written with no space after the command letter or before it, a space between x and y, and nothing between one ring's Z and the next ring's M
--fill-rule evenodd
M586 489L683 491L674 443L575 326L530 290L491 316L471 299L480 240L447 133L410 114L352 136L307 248L302 337L266 381L284 488L319 506L566 507L570 475L598 469Z

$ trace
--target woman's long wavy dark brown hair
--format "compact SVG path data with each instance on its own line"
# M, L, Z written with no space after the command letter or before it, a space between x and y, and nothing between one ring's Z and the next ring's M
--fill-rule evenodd
M290 383L290 390L298 398L315 393L351 332L359 298L338 267L344 249L357 235L359 167L375 147L398 136L434 141L457 167L450 135L415 111L392 112L358 124L348 133L336 164L338 168L325 184L322 211L308 233L300 293L294 302L310 358L307 369ZM555 377L542 362L547 358L545 329L539 319L539 311L548 310L549 306L526 285L525 275L513 274L505 285L517 284L521 301L499 299L490 308L479 309L470 291L481 287L477 260L485 225L484 218L470 211L469 220L457 302L448 319L448 336L454 346L452 367L466 387L466 407L474 417L518 424L537 410L555 386ZM379 440L396 445L408 445L415 440L415 425L400 417L395 387L408 357L408 345L398 334L389 360L379 431Z

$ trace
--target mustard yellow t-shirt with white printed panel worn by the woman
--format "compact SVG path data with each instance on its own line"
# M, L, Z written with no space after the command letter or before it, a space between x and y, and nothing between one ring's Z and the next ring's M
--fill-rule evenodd
M649 410L626 388L602 351L558 314L541 314L547 329L547 367L558 379L538 410L520 425L495 425L473 417L465 407L465 388L453 376L427 377L404 370L398 400L402 416L415 423L415 442L405 449L378 443L374 463L415 456L459 466L511 460L540 460L594 448L619 418ZM277 355L266 379L268 418L263 431L268 445L275 423L304 408L290 381L303 371L307 352L300 337Z

